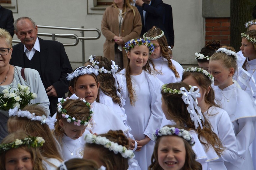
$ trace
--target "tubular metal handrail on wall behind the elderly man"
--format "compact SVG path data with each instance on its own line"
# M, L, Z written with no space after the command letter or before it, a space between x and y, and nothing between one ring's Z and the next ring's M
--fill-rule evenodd
M47 26L47 25L37 25L38 28L50 28L50 29L60 29L60 30L74 30L80 31L81 37L78 37L76 34L53 34L53 33L38 33L38 35L43 36L51 36L52 40L56 40L56 37L64 37L64 38L74 38L76 39L75 43L64 43L64 46L76 46L78 41L82 42L82 62L85 64L85 49L84 49L84 40L97 40L101 36L101 32L97 28L72 28L72 27L57 27L57 26ZM84 37L84 31L96 31L98 35L96 37ZM14 43L20 43L20 40L13 40Z

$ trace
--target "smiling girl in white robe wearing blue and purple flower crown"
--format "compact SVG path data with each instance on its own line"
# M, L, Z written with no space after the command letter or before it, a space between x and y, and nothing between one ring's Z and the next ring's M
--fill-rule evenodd
M125 47L128 57L126 69L117 74L121 95L126 100L123 108L127 124L137 141L135 159L141 169L148 169L153 153L152 132L160 128L163 112L160 108L160 80L150 74L148 57L154 50L149 40L130 40Z

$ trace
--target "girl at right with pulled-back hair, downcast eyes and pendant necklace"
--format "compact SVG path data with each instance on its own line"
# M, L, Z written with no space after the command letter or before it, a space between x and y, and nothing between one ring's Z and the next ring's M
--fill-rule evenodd
M210 58L209 72L215 79L215 100L229 114L238 144L238 159L225 162L225 166L227 169L253 169L248 147L255 137L256 107L251 97L232 81L236 59L232 47L220 48Z

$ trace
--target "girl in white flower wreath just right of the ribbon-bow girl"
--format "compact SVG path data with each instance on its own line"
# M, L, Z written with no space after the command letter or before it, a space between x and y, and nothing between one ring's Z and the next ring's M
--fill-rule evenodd
M236 161L238 148L236 135L229 115L224 109L218 107L214 101L214 91L211 87L211 84L214 83L214 78L206 70L197 67L189 67L184 69L182 81L188 85L197 86L199 88L201 96L197 98L198 106L211 123L213 132L218 135L224 147L220 160L209 162L209 164L212 169L226 169L224 161Z

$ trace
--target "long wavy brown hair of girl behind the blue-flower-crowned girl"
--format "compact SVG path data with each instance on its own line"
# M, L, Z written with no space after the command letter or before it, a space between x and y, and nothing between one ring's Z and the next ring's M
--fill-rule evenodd
M162 34L162 30L160 28L157 28L156 26L154 26L153 28L148 30L146 37L153 38L153 37L156 37L161 34ZM168 62L168 67L173 71L173 73L175 74L175 77L180 77L175 66L172 64L172 50L168 48L168 42L167 42L165 35L158 38L157 42L159 43L159 46L161 47L161 53L162 53L163 58L165 58ZM154 64L152 64L152 65L154 65Z

